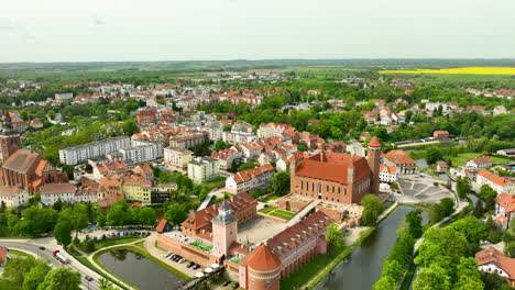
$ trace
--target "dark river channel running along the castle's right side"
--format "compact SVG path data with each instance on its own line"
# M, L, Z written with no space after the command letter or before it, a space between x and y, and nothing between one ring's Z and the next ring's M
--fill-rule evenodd
M397 241L396 231L403 223L404 215L414 210L412 207L398 207L349 255L348 263L340 263L315 289L372 289L375 281L381 278L383 263ZM427 222L427 212L423 212L423 216L424 223Z

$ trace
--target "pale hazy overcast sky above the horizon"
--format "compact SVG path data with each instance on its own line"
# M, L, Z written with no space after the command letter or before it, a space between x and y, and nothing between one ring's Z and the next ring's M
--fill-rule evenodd
M0 63L515 58L514 0L2 0Z

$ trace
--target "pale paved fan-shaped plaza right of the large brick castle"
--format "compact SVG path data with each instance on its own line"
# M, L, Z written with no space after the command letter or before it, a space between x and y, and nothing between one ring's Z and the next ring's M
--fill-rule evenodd
M438 185L435 186L435 182ZM456 201L456 196L442 182L442 180L426 175L399 176L398 186L402 193L395 193L394 197L403 203L432 204L443 198L452 198Z

